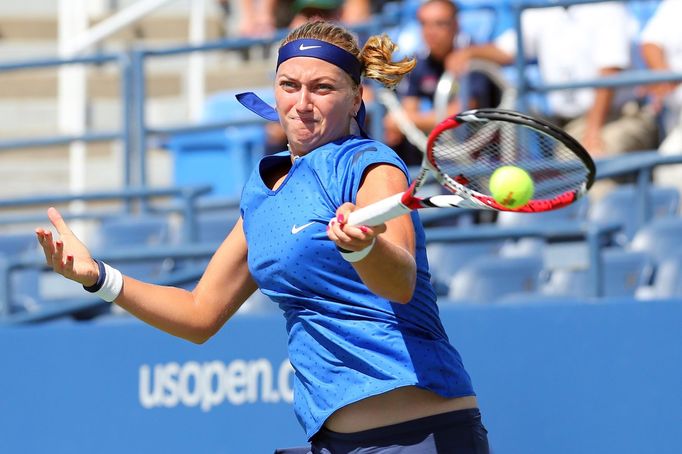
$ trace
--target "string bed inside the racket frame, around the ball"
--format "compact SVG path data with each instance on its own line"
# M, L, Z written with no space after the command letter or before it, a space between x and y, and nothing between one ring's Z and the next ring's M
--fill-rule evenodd
M489 177L499 167L526 170L535 183L533 199L552 199L580 190L589 170L575 152L554 136L523 124L474 121L443 131L429 161L449 190L489 195ZM463 187L463 188L462 188Z

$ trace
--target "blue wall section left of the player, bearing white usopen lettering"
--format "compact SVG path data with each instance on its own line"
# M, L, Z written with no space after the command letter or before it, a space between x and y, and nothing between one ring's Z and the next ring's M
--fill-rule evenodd
M0 453L271 453L305 444L280 313L201 345L130 317L0 329Z

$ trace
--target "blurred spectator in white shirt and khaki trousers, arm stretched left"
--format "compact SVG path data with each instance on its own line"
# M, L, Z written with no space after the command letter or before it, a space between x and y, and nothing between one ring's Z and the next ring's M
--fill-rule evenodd
M525 57L537 59L545 83L613 75L631 65L628 24L627 9L617 2L529 9L522 15ZM476 46L465 57L508 65L516 50L516 30L508 29L494 44ZM559 90L547 94L547 103L550 120L595 157L656 144L655 118L640 109L633 89Z

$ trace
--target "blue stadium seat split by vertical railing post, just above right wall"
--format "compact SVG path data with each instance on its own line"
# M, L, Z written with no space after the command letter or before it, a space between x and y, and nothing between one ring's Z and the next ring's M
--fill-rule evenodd
M633 297L637 289L647 283L653 272L649 255L641 251L608 248L602 251L603 297ZM542 285L541 293L551 296L594 296L589 288L590 269L556 269Z

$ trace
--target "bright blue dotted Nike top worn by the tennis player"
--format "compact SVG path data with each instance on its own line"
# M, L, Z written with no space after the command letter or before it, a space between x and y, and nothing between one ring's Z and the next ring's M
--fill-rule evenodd
M402 386L474 395L439 318L418 214L411 214L417 284L408 304L370 292L327 237L327 223L342 203L355 202L368 166L386 163L407 175L405 164L379 142L348 136L297 158L281 186L269 189L261 174L289 159L283 152L261 160L241 212L251 275L284 311L294 410L306 435L339 408Z

